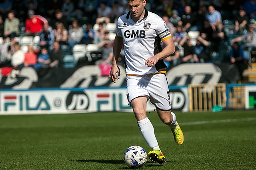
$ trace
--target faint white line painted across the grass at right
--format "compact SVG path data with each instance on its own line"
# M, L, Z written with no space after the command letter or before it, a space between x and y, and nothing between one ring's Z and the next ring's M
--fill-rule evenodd
M242 119L225 119L225 120L211 120L211 121L194 121L194 122L179 123L179 125L202 125L202 124L209 124L209 123L227 123L227 122L253 121L253 120L256 120L256 117L242 118Z

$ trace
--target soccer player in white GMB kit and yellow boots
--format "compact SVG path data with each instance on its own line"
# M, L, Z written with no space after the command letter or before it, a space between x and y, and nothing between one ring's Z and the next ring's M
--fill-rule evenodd
M170 92L163 59L174 53L175 47L166 23L144 6L146 0L127 0L129 12L118 18L109 78L116 83L120 69L118 57L124 45L126 61L127 99L134 111L140 132L152 151L150 160L166 161L154 134L154 127L146 115L148 100L156 106L160 119L170 127L178 145L184 137L171 112ZM161 41L165 48L162 50ZM118 76L116 75L118 74Z

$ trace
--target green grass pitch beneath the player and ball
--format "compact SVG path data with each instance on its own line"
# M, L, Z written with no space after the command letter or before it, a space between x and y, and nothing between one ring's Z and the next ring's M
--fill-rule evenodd
M255 170L256 111L182 113L176 145L156 112L148 113L166 163L142 170ZM142 138L133 113L0 116L0 170L125 170L124 151Z

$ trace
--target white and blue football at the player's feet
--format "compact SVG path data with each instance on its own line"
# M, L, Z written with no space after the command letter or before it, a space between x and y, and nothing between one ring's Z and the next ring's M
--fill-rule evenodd
M131 146L124 152L124 162L129 168L142 167L148 159L146 150L140 146Z

